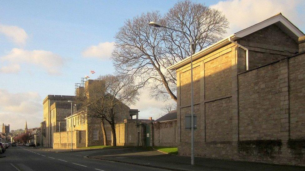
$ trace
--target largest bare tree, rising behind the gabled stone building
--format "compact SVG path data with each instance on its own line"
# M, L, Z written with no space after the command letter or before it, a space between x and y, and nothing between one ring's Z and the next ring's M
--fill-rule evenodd
M182 33L150 27L150 21L190 34L193 53L220 40L229 23L222 12L187 0L164 16L155 11L129 19L116 34L112 59L117 72L136 78L155 99L171 97L177 102L176 73L166 68L190 55L190 43Z

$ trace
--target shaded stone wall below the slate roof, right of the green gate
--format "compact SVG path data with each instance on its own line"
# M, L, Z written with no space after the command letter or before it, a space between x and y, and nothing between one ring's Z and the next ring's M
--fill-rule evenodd
M153 146L178 146L177 120L166 122L154 122L153 127Z

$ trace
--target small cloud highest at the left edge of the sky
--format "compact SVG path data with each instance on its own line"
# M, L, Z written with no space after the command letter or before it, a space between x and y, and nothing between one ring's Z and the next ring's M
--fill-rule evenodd
M0 24L0 34L3 34L17 45L24 45L27 40L27 33L20 27Z

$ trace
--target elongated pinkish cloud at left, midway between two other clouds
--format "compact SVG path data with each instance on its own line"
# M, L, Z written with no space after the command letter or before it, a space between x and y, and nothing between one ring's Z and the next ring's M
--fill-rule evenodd
M63 67L64 60L60 55L45 50L23 50L14 48L8 55L0 58L12 65L32 64L45 69L50 75L59 75Z

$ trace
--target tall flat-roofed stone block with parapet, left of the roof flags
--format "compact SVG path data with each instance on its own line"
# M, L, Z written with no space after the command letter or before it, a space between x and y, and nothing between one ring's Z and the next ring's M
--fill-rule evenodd
M41 142L44 147L52 147L53 132L59 131L59 122L65 121L67 113L71 113L71 103L75 96L47 95L43 100L43 121L41 122ZM55 104L54 104L55 103ZM51 106L53 114L51 115ZM69 112L68 112L69 111ZM67 113L66 113L67 112Z

